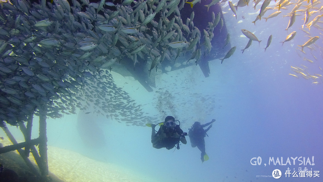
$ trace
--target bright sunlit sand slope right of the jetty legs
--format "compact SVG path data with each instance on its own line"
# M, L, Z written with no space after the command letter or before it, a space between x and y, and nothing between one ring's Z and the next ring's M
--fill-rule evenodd
M64 181L151 181L122 167L102 163L76 152L51 146L48 146L48 167L50 172Z

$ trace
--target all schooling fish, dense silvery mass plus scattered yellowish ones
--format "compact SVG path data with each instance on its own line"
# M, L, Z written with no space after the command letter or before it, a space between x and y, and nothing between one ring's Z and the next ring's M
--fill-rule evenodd
M255 9L260 1L255 0ZM123 58L132 60L135 68L140 57L150 62L147 71L152 71L162 61L176 59L186 51L191 52L191 59L197 62L202 55L211 52L211 40L216 38L214 27L223 26L220 14L214 12L212 22L204 30L194 26L194 12L183 23L179 11L185 3L193 7L199 3L198 0L71 2L0 1L0 121L18 125L34 113L59 118L63 114L76 113L78 108L84 111L95 108L95 112L106 114L107 118L118 118L120 122L128 121L133 125L144 125L144 120L158 120L144 116L141 106L114 84L108 70L113 64L121 63ZM320 3L318 0L294 3L279 0L274 7L269 6L270 2L264 0L253 23L262 18L267 21L278 16L287 6L293 6L286 30L293 27L299 14L305 20L302 30L321 29L318 23L323 16L323 6L316 7ZM213 0L205 10L217 3L223 4L226 0ZM228 3L237 17L237 7L249 5L249 0L239 0L237 5L231 1ZM268 10L276 12L264 17ZM312 18L316 13L321 15ZM252 41L257 41L260 46L261 40L251 31L241 31L249 38L243 52ZM295 36L296 31L283 43ZM299 51L305 52L304 48L311 48L318 39L319 35L310 37L300 45ZM265 50L272 40L275 37L270 35ZM230 34L225 45L229 41ZM229 59L235 49L236 46L232 47L221 63ZM292 67L292 70L314 80L321 77L319 74L305 74L300 67Z

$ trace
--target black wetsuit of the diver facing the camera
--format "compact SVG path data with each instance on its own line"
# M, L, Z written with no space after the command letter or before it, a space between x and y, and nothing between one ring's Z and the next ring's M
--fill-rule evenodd
M168 130L165 125L161 125L153 138L154 141L152 140L152 146L157 149L165 147L167 150L170 150L180 142L182 134L183 130L178 124L171 130Z

